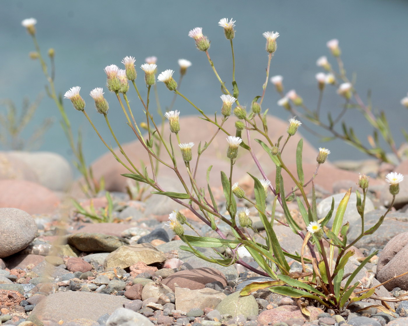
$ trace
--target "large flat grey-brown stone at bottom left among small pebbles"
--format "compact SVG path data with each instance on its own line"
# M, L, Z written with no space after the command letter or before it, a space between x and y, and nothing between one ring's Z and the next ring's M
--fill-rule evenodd
M130 300L116 295L67 291L52 293L35 306L32 314L40 320L88 319L97 321L101 313L113 313Z

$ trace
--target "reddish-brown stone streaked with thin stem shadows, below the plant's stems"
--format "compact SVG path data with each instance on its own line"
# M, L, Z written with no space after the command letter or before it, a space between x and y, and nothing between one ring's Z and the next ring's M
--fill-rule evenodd
M163 284L169 286L172 291L175 290L175 284L181 288L198 290L203 289L205 284L215 281L220 281L223 286L227 285L227 280L221 271L215 268L202 267L178 271L165 278Z

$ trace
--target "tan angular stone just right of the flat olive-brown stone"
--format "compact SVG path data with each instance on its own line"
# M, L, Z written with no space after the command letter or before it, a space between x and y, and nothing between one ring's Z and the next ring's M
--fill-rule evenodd
M150 243L122 246L111 252L104 261L104 269L109 267L127 268L137 262L145 264L162 263L166 256Z

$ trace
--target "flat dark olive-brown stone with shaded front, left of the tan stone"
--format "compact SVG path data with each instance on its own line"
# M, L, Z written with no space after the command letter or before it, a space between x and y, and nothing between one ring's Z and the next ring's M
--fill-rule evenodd
M69 236L68 244L84 252L112 252L127 245L128 241L108 234L80 232Z

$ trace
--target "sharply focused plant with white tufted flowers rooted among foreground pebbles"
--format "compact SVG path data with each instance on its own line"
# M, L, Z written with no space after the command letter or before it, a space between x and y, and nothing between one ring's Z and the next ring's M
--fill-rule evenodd
M358 185L361 189L360 191L362 192L362 196L359 191L356 191L356 196L357 211L361 216L361 234L353 242L347 242L347 231L349 225L348 222L343 223L344 212L351 195L351 188L344 195L344 198L341 200L336 211L334 211L333 199L331 209L328 214L324 218L318 219L313 179L318 177L319 167L321 164L324 164L327 156L330 154L330 151L326 148L319 148L319 153L316 157L317 165L315 173L312 176L305 178L302 168L303 140L301 139L297 144L296 150L296 172L293 173L288 169L287 165L282 160L282 152L285 149L285 145L288 143L288 141L290 141L290 138L296 134L302 123L295 118L290 119L287 128L287 135L284 141L282 141L284 136L280 137L279 139L272 140L268 134L268 116L266 115L268 110L262 112L261 107L268 84L271 59L273 57L273 53L277 49L277 37L279 36L279 33L265 32L263 34L266 38L266 51L268 52L266 81L262 86L262 95L254 98L251 103L251 111L247 112L246 108L239 103L239 89L237 82L235 81L235 57L233 48L233 38L235 36L233 29L235 26L234 23L235 21L228 21L226 18L220 20L219 23L220 26L224 28L224 33L227 40L229 40L231 43L233 61L231 91L217 73L217 70L211 60L209 54L210 41L208 40L208 37L203 35L202 28L197 27L188 33L188 35L195 40L197 49L205 53L215 76L221 84L224 92L224 94L221 95L221 119L217 119L217 115L215 115L214 119L212 119L191 100L189 100L188 97L180 92L180 84L177 85L177 82L174 80L173 70L165 70L157 77L157 80L164 82L166 87L174 92L176 96L182 97L185 101L191 104L193 108L200 112L202 119L206 121L206 123L212 123L217 126L217 131L215 134L209 137L209 141L205 142L204 145L202 145L202 143L195 145L192 142L181 142L179 131L182 128L188 127L182 126L180 123L180 112L177 110L169 110L164 115L164 117L169 120L170 129L169 139L164 139L163 132L155 123L151 114L151 108L149 107L151 87L155 85L156 81L155 76L157 73L157 65L155 64L155 60L152 60L153 62L151 61L146 64L142 64L141 66L141 69L144 71L144 80L140 81L140 84L142 86L146 86L147 88L146 99L141 97L136 84L137 74L135 73L134 66L135 58L126 57L123 60L125 72L120 72L118 66L115 65L107 66L105 68L108 78L108 89L115 93L118 99L118 104L126 117L127 124L133 130L135 137L137 137L137 139L140 141L144 150L146 150L146 152L149 154L149 169L147 167L144 169L138 169L126 155L119 141L115 137L115 133L109 124L109 106L103 97L102 88L95 88L92 90L91 97L93 97L95 100L95 107L97 111L104 115L108 129L113 139L115 139L115 142L119 146L122 156L119 157L118 154L114 152L113 148L107 145L106 141L87 115L84 109L84 100L79 94L79 86L75 86L69 90L69 92L72 93L70 99L74 108L82 111L100 139L111 151L113 156L115 156L115 159L126 167L127 170L129 170L129 173L123 174L123 176L136 180L140 183L145 183L155 190L152 192L153 194L168 196L169 198L173 199L175 203L188 208L195 216L197 216L197 218L211 227L211 229L217 234L216 237L201 236L200 233L187 222L186 217L180 211L173 211L169 215L169 227L186 243L186 246L180 247L181 249L190 251L197 257L208 262L217 263L222 266L241 264L251 271L254 271L260 275L268 276L272 279L270 282L253 283L246 286L241 292L242 295L248 295L253 291L268 287L275 293L289 295L296 298L299 307L302 309L302 312L305 315L310 315L310 313L307 311L305 305L302 305L300 298L307 298L308 300L319 304L323 308L333 308L339 311L350 302L373 297L375 288L362 289L357 293L356 288L360 283L356 282L355 284L351 284L351 282L357 273L364 267L366 262L373 258L377 251L366 257L351 275L344 275L344 266L346 265L348 259L354 254L354 251L350 248L361 237L375 232L383 222L384 217L386 214L388 214L394 203L395 196L398 194L399 183L402 181L403 176L396 173L389 174L387 176L387 181L390 183L392 203L390 204L390 207L386 213L381 216L379 221L370 229L365 229L364 227L364 207L368 189L368 177L365 175L361 175L359 177ZM333 55L336 55L337 57L339 56L339 51L337 51L334 47L332 52ZM181 75L183 76L186 73L188 65L183 67L180 64L180 66ZM123 76L125 75L127 79L124 79ZM130 83L132 84L131 86L133 86L146 114L146 122L144 122L144 126L147 128L147 135L142 134L140 130L142 123L135 120L132 107L127 97L127 93L130 91ZM278 91L283 90L282 77L275 76L273 78L273 83ZM323 87L323 78L320 76L319 88ZM350 99L352 94L351 87L341 87L340 93L342 96ZM290 101L293 101L294 104L302 105L302 98L297 95L295 91L289 92L288 98L290 98ZM282 101L285 101L286 106L288 106L288 109L290 109L288 99L284 97ZM238 118L235 123L235 130L226 130L224 128L224 123L227 119L231 119L232 113ZM219 132L223 132L226 135L226 141L228 143L228 149L225 155L230 162L230 171L228 171L228 173L221 172L221 183L228 214L222 214L220 209L218 209L217 201L213 196L209 180L209 172L212 166L207 168L200 165L200 156L211 145L213 139ZM262 145L262 148L268 154L271 162L276 166L275 183L272 183L267 179L264 169L253 151L253 140L251 139L250 132L259 134L260 139L255 139L255 141ZM188 139L186 141L188 141ZM176 142L178 146L175 145ZM162 144L165 150L164 154L159 155L157 153L155 150L156 143ZM197 149L194 151L194 153L193 148ZM180 150L181 152L184 166L180 167L177 164L175 156L175 151L177 150ZM259 179L249 174L253 179L255 199L249 198L244 189L239 186L239 183L234 182L235 180L232 178L235 162L237 159L239 159L239 152L243 150L250 152L259 173L263 177ZM166 161L163 159L163 155L168 156L171 159L171 163L166 163ZM158 183L155 162L159 162L164 166L164 168L170 172L173 172L177 176L184 189L184 192L168 192ZM186 170L188 180L185 180L182 177L182 174L180 173L181 169ZM208 183L207 189L199 188L195 179L197 173L203 173L205 169ZM281 174L282 170L289 175L290 179L296 185L295 188L287 194L284 190L284 180ZM312 188L311 198L306 196L306 187ZM271 200L272 208L270 210L267 209L267 204L269 203L267 200L268 193L273 194L273 200ZM253 227L249 210L246 208L237 207L237 200L239 200L239 202L242 204L249 203L255 207L266 231L265 236L262 236L258 230ZM302 219L307 225L306 234L290 214L287 205L287 202L290 200L296 200L297 202ZM283 208L283 219L279 219L275 215L276 205L280 205ZM327 225L329 220L332 218L332 215L334 215L333 226L329 229ZM299 248L300 253L290 253L285 248L281 247L273 227L275 221L289 227L295 236L302 238L303 245L302 248ZM221 231L221 229L218 227L220 223L225 223L228 225L233 234L232 239L227 238ZM193 229L193 231L197 233L197 236L186 235L184 233L184 225ZM248 231L253 231L261 236L265 240L265 244L255 241L250 235L251 232ZM328 243L329 250L327 252L324 247L324 242ZM213 248L214 257L208 257L200 253L200 251L197 251L195 247ZM308 255L305 253L306 247L309 251ZM222 253L223 251L219 251L220 248L228 250L224 250L225 253ZM259 269L252 267L241 259L239 256L239 249L241 248L246 249L251 254L254 260L259 264ZM228 251L231 252L231 255L228 255ZM336 252L337 257L335 258ZM293 259L300 262L302 264L302 272L291 273L287 259ZM345 284L342 283L347 276L349 277L345 281ZM381 300L385 301L387 298L382 298Z

